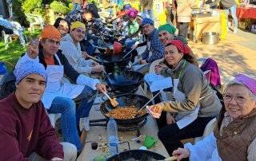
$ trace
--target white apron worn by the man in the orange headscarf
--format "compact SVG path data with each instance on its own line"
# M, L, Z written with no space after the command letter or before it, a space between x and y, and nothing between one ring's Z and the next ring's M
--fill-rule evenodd
M55 97L62 96L74 99L84 88L82 84L70 84L62 81L64 77L64 66L56 54L54 57L58 60L59 65L47 65L46 67L47 83L46 90L42 95L42 103L46 109L50 108Z

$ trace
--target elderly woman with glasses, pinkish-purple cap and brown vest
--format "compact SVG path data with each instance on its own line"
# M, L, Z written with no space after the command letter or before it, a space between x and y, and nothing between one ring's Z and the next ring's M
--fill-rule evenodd
M256 79L238 74L226 84L223 107L214 132L195 145L186 143L173 155L178 160L256 159Z

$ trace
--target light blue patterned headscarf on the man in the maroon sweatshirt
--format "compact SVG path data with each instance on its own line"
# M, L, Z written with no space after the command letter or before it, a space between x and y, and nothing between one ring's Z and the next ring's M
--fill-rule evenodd
M18 84L22 79L30 74L38 74L47 81L45 67L36 61L25 61L21 63L18 68L14 69L14 76L16 77L15 84Z

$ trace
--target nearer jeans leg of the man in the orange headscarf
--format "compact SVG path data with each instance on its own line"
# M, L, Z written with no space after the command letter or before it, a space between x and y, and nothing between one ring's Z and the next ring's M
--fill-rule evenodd
M62 124L62 136L63 141L73 143L78 151L82 151L82 144L79 139L76 116L75 116L76 105L74 100L58 96L54 98L49 113L61 113L61 124Z

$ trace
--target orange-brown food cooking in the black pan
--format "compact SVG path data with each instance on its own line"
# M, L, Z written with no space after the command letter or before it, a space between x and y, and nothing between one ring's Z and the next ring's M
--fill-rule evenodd
M114 119L126 120L126 119L133 119L138 112L138 108L134 105L132 106L124 106L119 108L114 108L110 112L106 113L106 116L113 117ZM146 110L143 109L139 112L139 116L145 115Z

